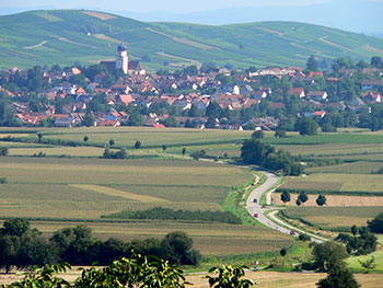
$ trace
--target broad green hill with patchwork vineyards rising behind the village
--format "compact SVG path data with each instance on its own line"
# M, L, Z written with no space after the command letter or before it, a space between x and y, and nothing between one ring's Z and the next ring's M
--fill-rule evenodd
M323 59L369 60L383 39L294 22L221 26L144 23L85 10L28 11L0 16L0 69L92 64L113 59L119 43L148 70L212 61L235 67L303 66Z

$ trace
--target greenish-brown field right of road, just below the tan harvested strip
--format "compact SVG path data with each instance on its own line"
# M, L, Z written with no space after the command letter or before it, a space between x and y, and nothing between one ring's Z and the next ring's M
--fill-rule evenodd
M365 226L383 211L383 207L288 207L283 212L291 219L304 219L322 228Z

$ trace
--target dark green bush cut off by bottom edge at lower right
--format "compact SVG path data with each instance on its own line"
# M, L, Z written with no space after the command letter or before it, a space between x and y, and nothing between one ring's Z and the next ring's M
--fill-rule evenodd
M320 280L318 288L359 288L360 285L353 278L352 273L344 262L336 263L328 270L328 276Z

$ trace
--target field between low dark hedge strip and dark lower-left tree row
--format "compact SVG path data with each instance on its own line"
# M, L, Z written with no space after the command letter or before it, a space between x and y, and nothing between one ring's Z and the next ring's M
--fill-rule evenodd
M85 223L93 234L106 240L109 237L124 241L147 238L163 238L171 231L185 231L194 241L194 246L204 256L227 256L256 254L279 251L293 244L286 234L267 228L224 223L198 223L185 221L127 221L127 222L68 222L68 221L31 221L44 234L50 235L62 227L74 227Z

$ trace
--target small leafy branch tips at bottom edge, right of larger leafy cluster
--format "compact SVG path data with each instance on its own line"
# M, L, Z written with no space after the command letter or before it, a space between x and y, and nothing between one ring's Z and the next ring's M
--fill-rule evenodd
M231 265L222 267L212 267L209 273L218 273L217 277L206 276L209 279L210 287L213 288L248 288L256 285L253 280L241 279L245 275L246 266L233 268Z

